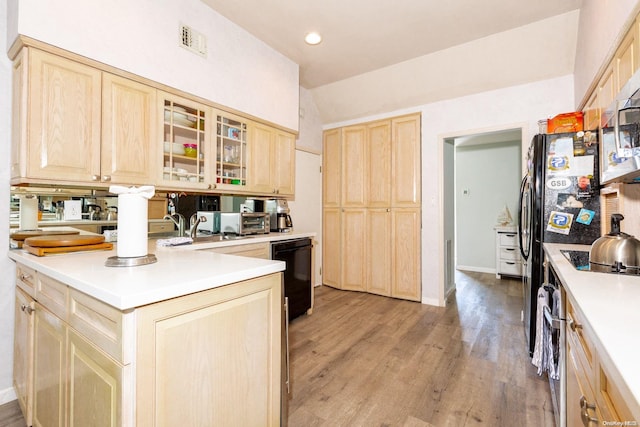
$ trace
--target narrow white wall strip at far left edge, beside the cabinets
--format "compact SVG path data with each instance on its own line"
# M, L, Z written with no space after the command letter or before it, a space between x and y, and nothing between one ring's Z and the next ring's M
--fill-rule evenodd
M7 1L0 0L0 46L4 46ZM13 391L13 316L15 263L9 260L9 147L11 146L11 62L0 55L0 405L16 398Z

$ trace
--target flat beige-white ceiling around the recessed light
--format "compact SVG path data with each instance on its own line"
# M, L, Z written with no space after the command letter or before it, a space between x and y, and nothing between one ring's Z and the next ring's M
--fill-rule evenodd
M300 65L306 89L580 8L582 0L202 0ZM317 46L304 43L320 32Z

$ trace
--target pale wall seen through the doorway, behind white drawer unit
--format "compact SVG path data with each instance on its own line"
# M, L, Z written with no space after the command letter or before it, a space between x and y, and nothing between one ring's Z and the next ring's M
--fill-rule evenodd
M456 269L495 273L498 218L517 220L522 174L522 128L443 139L444 296Z

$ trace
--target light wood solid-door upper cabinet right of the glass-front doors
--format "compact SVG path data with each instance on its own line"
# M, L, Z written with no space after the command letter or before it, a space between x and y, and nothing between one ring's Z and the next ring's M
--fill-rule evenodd
M253 193L293 196L295 136L271 126L249 126L249 190Z

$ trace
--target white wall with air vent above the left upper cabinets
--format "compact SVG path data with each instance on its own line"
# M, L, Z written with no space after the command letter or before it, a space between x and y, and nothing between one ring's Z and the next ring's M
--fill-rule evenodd
M206 59L178 45L181 23ZM200 0L20 0L17 32L298 130L298 65Z

